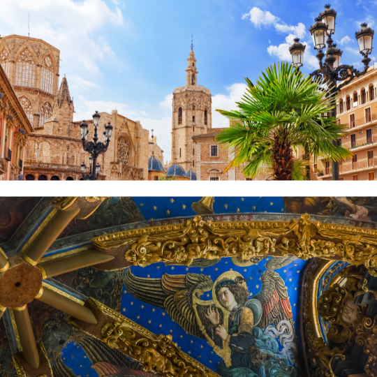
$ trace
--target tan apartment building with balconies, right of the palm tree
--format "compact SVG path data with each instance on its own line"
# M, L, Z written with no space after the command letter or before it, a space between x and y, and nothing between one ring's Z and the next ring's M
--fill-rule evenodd
M353 158L341 161L339 176L344 181L374 181L377 179L377 63L368 72L341 88L337 117L348 124L348 134L341 145L353 152ZM318 161L318 179L332 179L332 163Z

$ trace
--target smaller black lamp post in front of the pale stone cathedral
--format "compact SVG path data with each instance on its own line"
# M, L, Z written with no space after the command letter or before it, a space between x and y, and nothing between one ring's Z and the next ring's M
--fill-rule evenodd
M98 114L98 111L96 111L96 113L93 115L94 138L92 142L87 141L87 138L88 138L87 122L82 121L82 123L80 124L82 147L84 147L84 151L87 151L90 154L89 175L85 175L85 172L87 170L87 165L85 165L85 163L82 163L81 165L82 178L90 180L90 181L95 181L96 179L98 179L98 175L101 170L101 165L99 165L99 163L96 164L97 157L103 152L108 150L108 146L109 146L110 138L112 134L112 125L110 124L110 121L109 121L109 123L105 126L105 132L103 133L104 142L98 142L97 127L98 127L100 118L101 118L101 115ZM92 166L93 166L93 169L92 169Z

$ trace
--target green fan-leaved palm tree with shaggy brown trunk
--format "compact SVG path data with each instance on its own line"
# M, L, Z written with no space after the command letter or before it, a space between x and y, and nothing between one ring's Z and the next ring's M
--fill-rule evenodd
M307 179L311 157L341 161L353 155L332 144L348 126L328 116L335 97L326 94L324 81L312 81L287 63L269 66L262 75L255 85L245 79L239 110L216 110L234 121L215 139L235 151L227 170L246 165L244 175L256 177L267 167L274 180ZM299 148L306 160L295 160L293 151Z

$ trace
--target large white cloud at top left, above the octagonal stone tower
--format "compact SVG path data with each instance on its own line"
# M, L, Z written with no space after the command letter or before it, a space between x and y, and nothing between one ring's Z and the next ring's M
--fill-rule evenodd
M106 24L117 27L124 22L121 10L110 10L103 0L2 0L3 36L25 35L29 14L31 37L59 48L64 63L73 62L76 71L92 73L99 73L98 61L114 55L99 35L101 29Z

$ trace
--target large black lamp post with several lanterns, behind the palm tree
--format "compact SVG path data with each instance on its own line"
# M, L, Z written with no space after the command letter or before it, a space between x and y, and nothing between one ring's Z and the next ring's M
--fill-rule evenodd
M337 45L332 41L332 34L335 32L335 18L337 12L334 9L330 9L330 5L325 6L325 10L320 13L319 17L315 19L316 23L309 29L311 36L313 37L314 49L318 50L316 57L319 61L320 68L312 72L309 76L316 78L324 78L327 81L327 96L334 97L337 91L339 91L344 85L350 83L355 77L360 77L367 73L369 68L368 55L372 50L372 40L374 36L374 30L368 27L368 24L361 24L362 29L355 33L357 43L359 44L359 51L362 54L362 63L364 69L357 71L353 66L341 65L341 54L343 53ZM327 40L326 39L327 36ZM293 65L300 70L304 60L305 45L300 43L299 38L295 38L295 43L289 47L289 52L292 55ZM323 53L323 49L326 47L326 54ZM326 56L326 57L325 57ZM323 58L325 57L325 62ZM342 83L337 85L337 82ZM337 109L331 112L332 117L337 117ZM333 140L332 144L339 145L338 140ZM339 163L332 161L332 179L339 181Z

